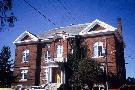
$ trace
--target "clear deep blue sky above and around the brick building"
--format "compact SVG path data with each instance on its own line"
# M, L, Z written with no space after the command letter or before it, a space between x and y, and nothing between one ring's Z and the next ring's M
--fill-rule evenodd
M95 19L117 27L117 18L122 18L123 37L126 43L125 60L127 77L135 77L135 1L134 0L27 0L47 19L28 6L24 0L13 0L13 12L17 17L15 27L0 32L0 48L11 47L14 59L15 45L12 43L22 32L28 30L39 34L52 28L69 24L88 23ZM48 21L51 20L51 22ZM55 23L56 25L52 24Z

